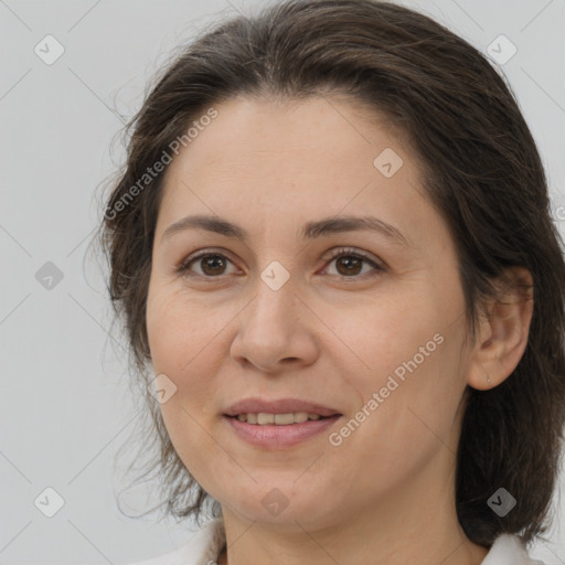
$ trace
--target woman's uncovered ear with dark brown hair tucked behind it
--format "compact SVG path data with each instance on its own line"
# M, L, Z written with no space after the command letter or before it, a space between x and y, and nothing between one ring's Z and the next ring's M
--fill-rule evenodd
M483 303L467 384L479 391L502 383L522 359L533 313L533 280L522 267L505 269L510 284Z

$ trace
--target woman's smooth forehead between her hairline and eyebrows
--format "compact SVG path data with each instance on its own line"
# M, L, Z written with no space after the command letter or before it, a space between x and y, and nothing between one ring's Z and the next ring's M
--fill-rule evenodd
M213 108L216 117L169 166L158 233L188 213L231 217L256 235L276 225L294 236L341 211L399 228L416 222L422 235L438 221L415 154L385 116L328 96L237 97Z

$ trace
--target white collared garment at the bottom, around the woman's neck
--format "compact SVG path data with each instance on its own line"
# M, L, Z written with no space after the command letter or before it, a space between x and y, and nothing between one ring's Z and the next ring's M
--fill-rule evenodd
M222 518L209 522L194 537L178 550L130 565L216 565L216 559L225 544ZM544 565L533 561L516 535L503 534L497 537L481 565Z

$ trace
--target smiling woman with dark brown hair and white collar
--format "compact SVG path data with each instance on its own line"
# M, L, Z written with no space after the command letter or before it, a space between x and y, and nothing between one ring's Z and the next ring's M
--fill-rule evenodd
M392 3L284 1L190 45L132 128L109 290L167 511L213 519L143 565L534 563L565 265L483 55Z

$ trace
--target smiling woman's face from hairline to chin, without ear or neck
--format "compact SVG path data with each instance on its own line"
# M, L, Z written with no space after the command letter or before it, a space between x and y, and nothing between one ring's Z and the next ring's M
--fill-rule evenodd
M147 305L180 458L224 511L288 527L445 493L470 355L415 154L335 97L215 109L167 171ZM236 230L167 232L195 215Z

